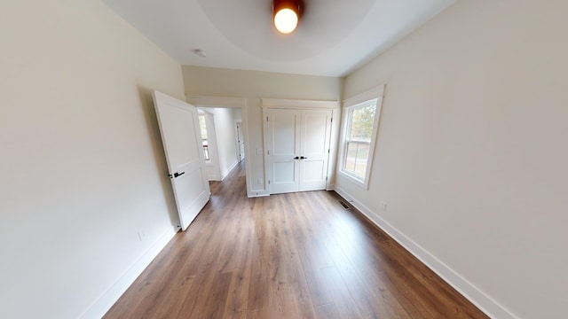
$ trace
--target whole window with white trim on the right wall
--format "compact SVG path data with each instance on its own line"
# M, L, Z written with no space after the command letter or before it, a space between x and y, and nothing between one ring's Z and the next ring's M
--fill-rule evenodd
M381 112L383 88L343 102L343 143L340 172L368 187Z

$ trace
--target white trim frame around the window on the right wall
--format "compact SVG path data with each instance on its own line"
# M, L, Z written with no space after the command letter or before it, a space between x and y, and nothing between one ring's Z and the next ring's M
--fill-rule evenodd
M342 113L342 135L341 135L341 147L340 147L340 157L339 157L339 173L351 182L359 185L360 187L368 190L369 178L371 176L371 171L373 170L373 162L375 155L375 144L377 138L377 131L379 128L379 121L381 119L381 109L383 106L383 92L384 85L377 87L375 89L370 89L367 92L361 93L355 97L350 97L343 100L343 113ZM360 106L367 105L370 102L376 100L376 110L375 110L375 121L373 121L373 132L371 133L371 141L369 142L369 153L367 159L367 170L365 172L365 178L361 179L357 175L351 174L351 172L345 171L345 159L347 157L347 136L349 134L350 124L351 124L351 111L353 109L359 108Z

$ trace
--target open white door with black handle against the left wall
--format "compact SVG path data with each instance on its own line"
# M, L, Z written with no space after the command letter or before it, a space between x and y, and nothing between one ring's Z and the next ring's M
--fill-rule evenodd
M156 90L153 96L179 226L186 230L210 196L197 108Z

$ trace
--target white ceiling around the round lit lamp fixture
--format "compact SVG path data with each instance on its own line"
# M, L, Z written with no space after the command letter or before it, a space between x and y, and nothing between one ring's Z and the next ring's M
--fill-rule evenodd
M456 0L304 0L291 35L272 0L102 1L182 65L343 76Z

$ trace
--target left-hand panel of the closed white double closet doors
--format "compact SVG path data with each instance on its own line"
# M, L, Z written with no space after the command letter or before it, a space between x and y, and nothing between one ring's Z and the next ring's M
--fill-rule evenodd
M268 111L269 186L272 194L298 191L300 174L298 121L300 116L296 110Z

